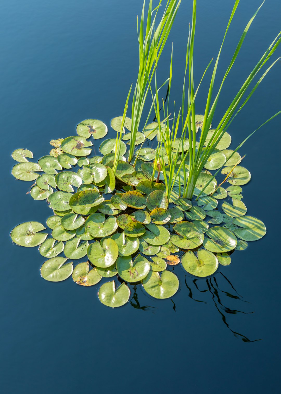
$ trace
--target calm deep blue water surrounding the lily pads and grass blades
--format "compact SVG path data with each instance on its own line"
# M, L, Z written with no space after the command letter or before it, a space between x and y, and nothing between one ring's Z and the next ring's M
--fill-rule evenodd
M196 80L217 54L231 3L198 2ZM259 0L241 3L224 47L220 78L244 26L259 6ZM0 391L5 394L277 392L279 224L268 195L277 197L280 191L279 155L272 150L280 142L280 118L241 150L247 154L244 165L252 173L251 182L243 188L243 201L248 213L263 220L268 231L246 251L236 252L231 265L221 272L248 302L217 290L216 282L224 292L238 297L221 273L216 273L213 279L195 282L187 275L187 285L182 275L181 291L172 300L150 299L138 286L138 301L134 295L126 307L111 310L100 304L96 288L77 286L71 279L44 281L39 274L44 258L35 249L12 245L9 239L18 223L44 223L50 215L46 204L25 194L27 184L11 176L11 152L26 147L39 158L50 150L50 139L75 134L79 121L96 117L109 125L112 117L122 113L137 73L135 17L141 7L140 0L2 2ZM229 75L214 122L279 32L280 12L277 0L268 0L259 12ZM191 2L183 1L157 74L159 81L168 76L173 41L171 94L178 105L190 19ZM231 146L236 147L280 110L280 64L233 122ZM203 111L205 81L198 113ZM271 149L264 149L265 144ZM245 342L245 337L262 340Z

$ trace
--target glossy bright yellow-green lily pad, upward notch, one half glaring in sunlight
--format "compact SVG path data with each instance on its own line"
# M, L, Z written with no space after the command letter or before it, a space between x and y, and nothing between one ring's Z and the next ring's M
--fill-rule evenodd
M111 238L105 238L101 242L96 241L88 247L88 257L96 267L108 268L118 257L118 245Z

